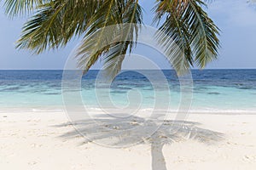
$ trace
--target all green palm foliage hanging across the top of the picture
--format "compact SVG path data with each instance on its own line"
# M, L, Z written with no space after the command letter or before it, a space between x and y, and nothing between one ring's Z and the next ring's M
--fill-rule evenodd
M206 3L206 0L155 0L153 23L181 49L174 53L176 49L157 36L177 71L186 71L194 65L204 68L218 56L219 30L204 10ZM40 54L65 47L73 37L84 37L78 49L79 67L86 72L101 59L111 77L120 71L125 54L135 48L140 30L136 24L143 23L143 7L138 0L5 0L4 5L10 17L30 16L16 42L17 48ZM88 37L100 28L125 23L135 24L125 31L127 41L88 53L102 41L101 36L96 41Z

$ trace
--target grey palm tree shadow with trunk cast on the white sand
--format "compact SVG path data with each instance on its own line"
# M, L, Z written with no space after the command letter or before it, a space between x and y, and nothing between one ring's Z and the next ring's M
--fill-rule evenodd
M223 133L197 127L200 123L157 119L145 120L139 116L97 115L94 119L72 122L73 131L64 133L61 138L69 139L83 135L85 141L108 147L129 147L135 144L150 144L152 170L167 170L163 146L173 142L195 139L205 144L214 144L224 138ZM157 118L156 118L157 117ZM163 117L163 116L162 116ZM65 127L70 123L57 125ZM154 132L154 133L152 133Z

